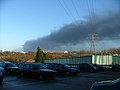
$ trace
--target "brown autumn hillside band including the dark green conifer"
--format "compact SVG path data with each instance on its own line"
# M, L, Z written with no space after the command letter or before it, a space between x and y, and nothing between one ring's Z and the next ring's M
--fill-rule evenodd
M108 50L103 50L96 52L96 54L119 54L120 48L112 48ZM35 61L35 62L44 62L45 59L51 58L66 58L66 57L74 57L74 56L90 56L92 55L89 51L69 51L68 53L63 52L44 52L40 47L37 48L36 52L10 52L4 51L0 52L0 61L6 60L11 62L27 62L27 61Z

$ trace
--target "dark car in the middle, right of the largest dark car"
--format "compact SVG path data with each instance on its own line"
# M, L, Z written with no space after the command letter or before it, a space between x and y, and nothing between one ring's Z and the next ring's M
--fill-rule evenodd
M47 65L48 68L56 70L58 75L67 75L72 76L78 74L79 70L75 68L71 68L67 64L58 64L58 63L51 63Z

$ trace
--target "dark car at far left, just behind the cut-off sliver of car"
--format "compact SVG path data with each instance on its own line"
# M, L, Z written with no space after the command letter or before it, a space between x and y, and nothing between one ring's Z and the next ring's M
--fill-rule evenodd
M5 69L5 74L19 74L20 69L14 63L9 61L0 62L0 66Z

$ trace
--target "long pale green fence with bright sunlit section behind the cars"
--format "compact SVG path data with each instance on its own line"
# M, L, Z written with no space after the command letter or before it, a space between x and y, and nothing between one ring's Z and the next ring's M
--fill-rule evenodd
M78 67L79 63L95 63L106 67L111 65L120 65L120 56L113 55L93 55L93 56L79 56L79 57L66 57L57 59L47 59L45 63L61 63L69 64L72 67Z

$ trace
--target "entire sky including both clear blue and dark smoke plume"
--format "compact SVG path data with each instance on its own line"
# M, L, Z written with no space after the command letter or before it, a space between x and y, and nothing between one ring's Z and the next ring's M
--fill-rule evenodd
M89 50L88 34L98 50L120 48L119 0L0 0L3 51Z

